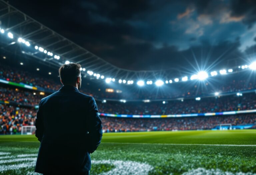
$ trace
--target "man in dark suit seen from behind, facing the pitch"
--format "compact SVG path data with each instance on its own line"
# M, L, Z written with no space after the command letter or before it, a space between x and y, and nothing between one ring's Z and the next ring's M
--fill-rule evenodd
M59 68L63 86L43 98L36 116L36 137L41 142L35 172L88 175L90 153L102 138L102 125L93 97L82 94L81 65Z

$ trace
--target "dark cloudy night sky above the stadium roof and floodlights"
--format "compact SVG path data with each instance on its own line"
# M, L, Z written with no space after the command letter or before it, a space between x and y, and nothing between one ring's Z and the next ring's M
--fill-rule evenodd
M121 68L249 63L255 0L9 0L47 27Z

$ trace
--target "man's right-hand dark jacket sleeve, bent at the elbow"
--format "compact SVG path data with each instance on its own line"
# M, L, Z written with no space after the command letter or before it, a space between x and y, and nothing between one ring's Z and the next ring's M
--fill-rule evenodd
M93 153L100 144L102 138L102 125L101 119L98 115L98 108L93 97L89 100L89 119L88 119L88 129L89 129L89 152Z

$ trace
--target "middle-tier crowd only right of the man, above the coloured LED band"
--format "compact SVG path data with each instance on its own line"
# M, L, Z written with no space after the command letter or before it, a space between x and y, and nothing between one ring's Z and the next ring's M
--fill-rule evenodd
M248 93L243 96L229 95L221 97L184 99L143 103L143 102L113 102L98 103L99 111L110 114L129 115L168 115L168 114L191 114L224 111L240 111L256 109L256 94Z

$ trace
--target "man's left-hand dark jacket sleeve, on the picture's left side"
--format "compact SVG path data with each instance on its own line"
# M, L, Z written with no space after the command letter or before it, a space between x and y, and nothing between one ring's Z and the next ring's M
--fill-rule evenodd
M36 114L36 121L35 121L35 125L36 125L36 137L38 138L38 140L41 142L42 141L42 137L43 137L43 116L42 116L42 106L41 106L41 101L39 102L39 107L38 107L38 111Z

